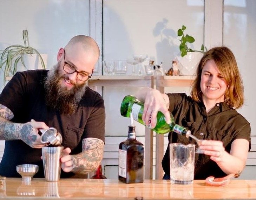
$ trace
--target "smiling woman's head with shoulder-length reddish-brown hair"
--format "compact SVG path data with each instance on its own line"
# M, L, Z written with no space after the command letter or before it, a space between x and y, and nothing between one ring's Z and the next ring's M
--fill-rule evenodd
M208 69L211 71L207 71ZM205 76L210 76L211 78L205 78ZM214 78L212 78L212 76L214 76ZM206 80L209 81L209 85L205 83ZM202 101L204 98L207 99L206 93L204 94L203 92L204 88L207 86L217 87L216 93L219 93L219 97L222 96L221 93L224 90L224 96L220 102L224 102L225 100L226 104L231 106L231 108L234 107L238 109L243 105L244 94L242 78L237 67L235 56L229 48L216 47L205 53L197 68L196 80L191 92L192 98L195 101ZM211 106L213 104L214 102L211 103Z

